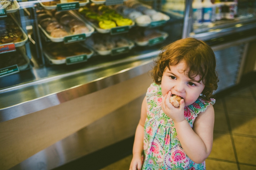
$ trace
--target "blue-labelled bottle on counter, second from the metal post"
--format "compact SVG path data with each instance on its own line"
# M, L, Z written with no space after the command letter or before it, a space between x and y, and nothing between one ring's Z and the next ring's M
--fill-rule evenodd
M215 21L215 5L210 0L203 1L203 24Z

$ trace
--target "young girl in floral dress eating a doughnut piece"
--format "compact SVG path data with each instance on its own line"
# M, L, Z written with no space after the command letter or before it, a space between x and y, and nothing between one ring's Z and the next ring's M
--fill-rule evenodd
M142 102L129 170L204 170L213 144L216 60L203 41L186 38L161 51ZM180 96L174 107L171 95Z

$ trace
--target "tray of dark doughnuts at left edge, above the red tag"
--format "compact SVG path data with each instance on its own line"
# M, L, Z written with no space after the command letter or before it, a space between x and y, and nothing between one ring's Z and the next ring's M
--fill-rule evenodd
M23 29L17 24L12 15L0 19L0 44L14 43L15 47L22 46L28 37Z

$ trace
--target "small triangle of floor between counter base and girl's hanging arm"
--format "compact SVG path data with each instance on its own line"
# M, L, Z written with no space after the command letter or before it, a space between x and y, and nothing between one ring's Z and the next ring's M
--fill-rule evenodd
M132 161L132 154L113 163L110 164L100 170L128 170L130 167L130 162Z

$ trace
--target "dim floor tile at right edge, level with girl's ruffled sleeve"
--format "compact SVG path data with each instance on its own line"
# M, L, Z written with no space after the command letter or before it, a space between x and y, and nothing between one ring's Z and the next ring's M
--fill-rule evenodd
M256 102L253 97L225 97L225 102L228 111L256 113Z

